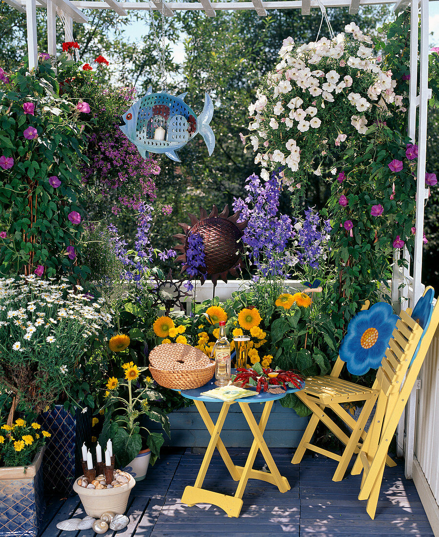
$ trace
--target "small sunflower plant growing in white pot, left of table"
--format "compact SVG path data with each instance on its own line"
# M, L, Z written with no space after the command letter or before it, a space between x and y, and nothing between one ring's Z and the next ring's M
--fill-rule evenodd
M162 433L150 432L145 424L148 418L160 423L169 437L168 417L154 404L162 400L162 395L155 389L153 380L143 376L146 367L129 361L121 369L122 378L111 376L106 383L99 443L105 445L111 439L116 465L120 468L127 466L142 447L152 451L150 463L154 464L164 438Z

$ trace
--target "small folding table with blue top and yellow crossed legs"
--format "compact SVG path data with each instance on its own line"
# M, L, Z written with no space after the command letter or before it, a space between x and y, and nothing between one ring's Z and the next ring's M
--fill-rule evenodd
M239 517L242 507L242 496L249 479L258 479L272 483L277 486L279 492L286 492L287 490L290 490L290 484L286 477L280 475L276 463L271 456L270 450L264 441L263 434L265 427L267 426L273 402L277 399L282 399L282 397L285 397L287 393L293 393L294 391L299 390L289 388L283 394L257 394L255 391L254 396L238 399L231 403L225 403L219 399L214 399L213 397L200 395L201 391L207 391L212 388L215 388L214 379L201 388L197 388L195 390L181 390L183 397L192 399L195 402L201 419L203 419L203 422L205 423L211 436L203 462L201 463L201 467L198 472L197 479L195 481L195 485L193 485L193 487L188 486L184 489L182 503L185 503L189 506L197 503L217 505L218 507L221 507L221 509L223 509L229 517ZM213 423L204 403L222 403L217 423ZM256 419L250 410L250 405L252 403L264 403L264 409L259 423L256 422ZM250 431L253 433L254 437L246 464L244 466L236 466L233 463L230 455L227 452L226 446L223 444L220 438L221 430L227 417L227 412L232 404L239 404L244 418L246 418ZM212 459L215 447L218 449L219 454L221 455L221 458L229 471L229 474L232 476L232 479L234 481L239 481L234 496L220 494L219 492L214 492L213 490L203 488L207 468ZM267 462L269 471L253 469L253 464L259 450L261 451L265 462Z

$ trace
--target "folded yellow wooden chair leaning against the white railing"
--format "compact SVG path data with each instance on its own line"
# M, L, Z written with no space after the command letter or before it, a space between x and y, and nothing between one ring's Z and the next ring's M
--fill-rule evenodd
M413 312L411 310L403 312L407 316L411 313L410 320L415 326L411 327L409 333L398 327L397 323L398 333L391 348L386 352L382 367L377 374L379 383L377 412L351 471L354 475L363 471L358 499L368 500L366 511L372 519L375 518L388 446L439 325L439 301L433 308L433 298L434 290L428 287ZM420 330L422 330L421 338L419 338ZM407 349L410 341L412 346L407 352L404 348ZM412 352L413 348L415 352Z

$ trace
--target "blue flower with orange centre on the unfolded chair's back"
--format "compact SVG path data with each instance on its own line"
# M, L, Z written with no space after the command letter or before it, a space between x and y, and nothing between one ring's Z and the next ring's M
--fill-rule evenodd
M373 304L352 317L340 345L340 358L352 375L378 369L399 317L386 302Z

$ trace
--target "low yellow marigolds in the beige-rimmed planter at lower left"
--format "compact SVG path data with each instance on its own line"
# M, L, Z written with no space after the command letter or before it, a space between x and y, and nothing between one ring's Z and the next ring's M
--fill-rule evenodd
M8 425L0 416L0 467L29 466L51 433L41 429L31 416Z

